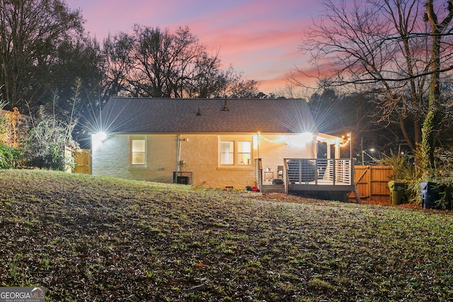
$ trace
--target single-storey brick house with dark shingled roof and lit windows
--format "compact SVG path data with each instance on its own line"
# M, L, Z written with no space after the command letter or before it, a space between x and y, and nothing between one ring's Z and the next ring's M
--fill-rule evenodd
M318 182L319 144L324 178L345 142L318 133L301 99L110 98L98 122L93 175L240 190ZM298 178L298 158L311 158L310 179Z

